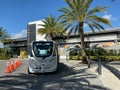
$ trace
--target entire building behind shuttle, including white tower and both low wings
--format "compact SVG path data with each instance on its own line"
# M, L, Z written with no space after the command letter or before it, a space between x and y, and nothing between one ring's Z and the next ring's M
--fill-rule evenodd
M49 39L45 35L37 33L39 28L42 28L39 24L42 24L41 20L29 22L27 25L27 38L21 39L12 39L13 43L4 43L5 50L15 51L19 56L30 55L31 54L31 42L38 41L41 39ZM64 37L54 37L53 38L59 47L59 50L65 52L68 48L73 48L74 46L80 47L80 36L79 35L70 35ZM120 28L106 29L105 31L95 33L85 32L84 40L86 48L90 47L112 47L111 49L118 49L120 46ZM115 46L117 45L117 46ZM119 48L120 49L120 48Z

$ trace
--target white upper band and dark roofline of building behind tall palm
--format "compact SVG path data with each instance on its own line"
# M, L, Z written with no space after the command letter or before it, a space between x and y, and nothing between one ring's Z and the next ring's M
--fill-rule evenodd
M54 40L58 42L59 45L80 44L79 35L71 35L69 36L69 38L67 36L55 37ZM106 43L110 44L110 43L119 42L120 41L120 28L107 29L101 32L96 31L95 33L85 32L84 41L85 41L86 47L93 47L96 44L100 45L100 44L106 44Z

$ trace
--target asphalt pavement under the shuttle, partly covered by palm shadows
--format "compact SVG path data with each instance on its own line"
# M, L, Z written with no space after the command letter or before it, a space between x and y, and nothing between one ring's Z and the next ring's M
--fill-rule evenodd
M57 73L28 74L28 60L21 60L16 70L6 74L6 62L0 61L0 90L119 90L105 84L105 74L102 72L104 77L98 75L95 64L88 68L88 65L80 64L80 61L60 60ZM110 75L108 71L104 72ZM118 85L119 79L116 81Z

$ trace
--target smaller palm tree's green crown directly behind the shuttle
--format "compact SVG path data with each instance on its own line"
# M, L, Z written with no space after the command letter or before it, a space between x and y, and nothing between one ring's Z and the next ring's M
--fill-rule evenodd
M64 33L63 25L59 22L59 19L56 19L51 15L42 20L42 23L43 24L39 24L42 26L42 28L38 30L39 34L45 34L47 37L53 39L54 36L62 35Z

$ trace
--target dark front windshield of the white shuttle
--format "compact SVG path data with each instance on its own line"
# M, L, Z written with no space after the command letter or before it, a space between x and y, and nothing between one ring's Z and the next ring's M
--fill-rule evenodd
M48 57L53 52L53 42L33 42L33 52L36 57Z

